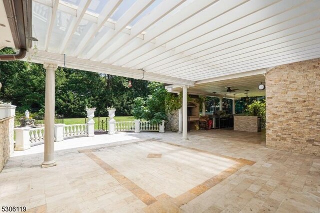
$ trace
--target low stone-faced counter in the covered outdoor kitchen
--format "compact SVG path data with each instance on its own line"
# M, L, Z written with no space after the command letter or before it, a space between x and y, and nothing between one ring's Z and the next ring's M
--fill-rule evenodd
M245 132L260 132L261 117L233 115L233 130Z

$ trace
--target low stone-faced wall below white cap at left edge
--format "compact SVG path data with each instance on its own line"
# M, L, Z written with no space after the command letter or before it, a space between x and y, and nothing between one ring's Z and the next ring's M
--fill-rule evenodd
M14 116L0 120L0 172L13 152Z

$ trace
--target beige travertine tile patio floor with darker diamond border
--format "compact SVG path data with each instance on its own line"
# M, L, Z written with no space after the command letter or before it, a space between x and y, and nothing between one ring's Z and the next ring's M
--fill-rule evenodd
M103 137L107 143L110 136ZM71 140L77 139L66 146ZM319 213L320 158L264 144L263 133L232 130L191 132L187 141L177 133L139 133L56 151L51 168L40 168L40 153L16 156L0 173L0 206L52 213Z

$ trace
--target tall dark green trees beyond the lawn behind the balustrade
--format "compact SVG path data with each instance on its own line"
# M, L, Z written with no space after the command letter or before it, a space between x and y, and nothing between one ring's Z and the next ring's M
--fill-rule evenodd
M0 54L13 54L4 48ZM132 87L128 87L128 81ZM0 62L0 100L11 102L17 111L43 111L45 69L42 64L24 61ZM96 116L107 116L107 107L116 116L130 115L136 97L150 94L148 81L61 68L55 71L55 111L65 117L84 117L85 106L96 107Z

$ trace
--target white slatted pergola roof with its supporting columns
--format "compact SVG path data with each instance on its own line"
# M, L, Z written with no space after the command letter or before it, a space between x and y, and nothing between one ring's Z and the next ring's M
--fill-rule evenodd
M218 81L320 57L319 18L319 0L33 0L37 51L27 55L47 68L46 110L56 66L172 84L183 94L187 139L188 90L209 95L208 85L224 88Z

